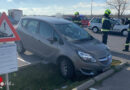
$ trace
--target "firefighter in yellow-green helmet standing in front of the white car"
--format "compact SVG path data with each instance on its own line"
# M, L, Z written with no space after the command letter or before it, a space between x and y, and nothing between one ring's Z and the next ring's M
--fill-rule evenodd
M105 13L104 13L104 18L102 18L102 33L103 33L103 36L102 36L102 42L104 44L107 44L107 38L108 38L108 32L110 31L111 29L111 21L110 21L110 14L111 14L111 11L109 9L105 10Z

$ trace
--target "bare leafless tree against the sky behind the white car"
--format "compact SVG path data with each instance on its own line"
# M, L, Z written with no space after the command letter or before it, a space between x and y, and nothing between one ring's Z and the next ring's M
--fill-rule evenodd
M118 18L121 17L128 7L128 0L107 0L107 5L110 8L117 10Z

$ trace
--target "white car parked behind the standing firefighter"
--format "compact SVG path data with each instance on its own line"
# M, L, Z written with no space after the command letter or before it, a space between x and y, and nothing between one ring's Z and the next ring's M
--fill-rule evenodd
M89 29L91 29L94 33L101 31L102 27L102 19L101 18L92 18L90 21ZM111 20L113 28L110 30L111 32L121 33L123 36L128 34L127 29L129 25L123 25L118 20Z

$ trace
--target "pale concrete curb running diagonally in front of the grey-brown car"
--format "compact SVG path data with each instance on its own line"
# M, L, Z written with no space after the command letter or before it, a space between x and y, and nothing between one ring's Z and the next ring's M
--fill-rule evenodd
M127 62L123 62L120 65L117 65L115 67L115 69L110 69L102 74L99 74L98 76L90 79L89 81L77 86L76 88L73 88L72 90L85 90L88 89L89 87L91 87L92 85L96 84L96 82L99 82L105 78L107 78L108 76L112 75L114 72L116 72L117 70L122 69L124 66L126 66L128 63Z

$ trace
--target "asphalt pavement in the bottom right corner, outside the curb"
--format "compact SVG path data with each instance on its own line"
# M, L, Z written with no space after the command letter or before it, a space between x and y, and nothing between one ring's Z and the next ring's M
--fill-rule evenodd
M130 90L130 67L112 75L90 90Z

